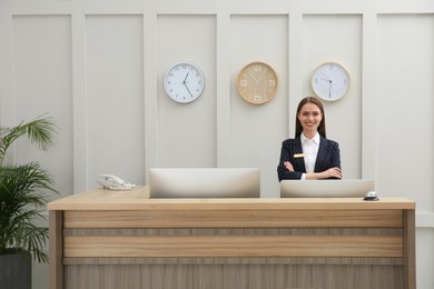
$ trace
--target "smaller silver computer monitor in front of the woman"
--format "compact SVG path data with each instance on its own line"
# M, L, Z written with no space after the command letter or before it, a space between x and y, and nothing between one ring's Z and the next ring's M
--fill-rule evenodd
M363 198L372 179L282 180L280 198Z

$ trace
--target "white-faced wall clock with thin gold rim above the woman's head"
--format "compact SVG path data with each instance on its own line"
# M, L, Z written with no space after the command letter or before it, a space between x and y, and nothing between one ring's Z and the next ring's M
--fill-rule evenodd
M335 101L345 96L349 88L349 74L336 62L320 64L312 76L314 93L328 101Z

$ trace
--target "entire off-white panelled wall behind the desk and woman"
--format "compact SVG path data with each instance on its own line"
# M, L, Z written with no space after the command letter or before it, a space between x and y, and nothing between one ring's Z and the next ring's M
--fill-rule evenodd
M49 153L22 141L14 159L40 160L62 196L106 172L141 185L151 167L259 167L263 197L277 197L282 141L328 60L352 77L348 94L325 103L345 177L417 201L417 285L433 288L432 0L0 1L0 124L56 119ZM206 78L190 104L164 91L181 61ZM263 106L236 91L251 61L279 77ZM33 288L47 288L47 267L33 275Z

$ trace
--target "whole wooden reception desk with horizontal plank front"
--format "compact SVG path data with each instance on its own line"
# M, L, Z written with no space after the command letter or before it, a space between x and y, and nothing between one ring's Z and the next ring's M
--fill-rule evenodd
M48 205L50 289L415 289L415 202L148 199Z

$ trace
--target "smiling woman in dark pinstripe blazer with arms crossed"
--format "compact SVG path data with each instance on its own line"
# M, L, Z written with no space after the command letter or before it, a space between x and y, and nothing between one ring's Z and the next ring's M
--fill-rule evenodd
M315 97L298 103L295 138L282 143L277 167L285 179L342 179L339 144L326 139L323 103Z

